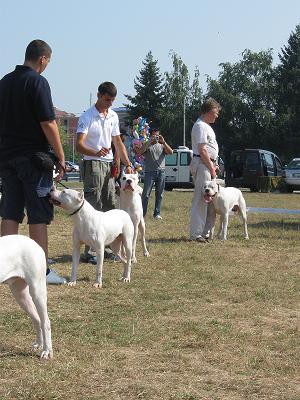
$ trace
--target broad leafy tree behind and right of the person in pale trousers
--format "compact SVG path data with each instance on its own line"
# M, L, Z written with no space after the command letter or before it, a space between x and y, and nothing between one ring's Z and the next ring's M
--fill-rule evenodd
M208 78L208 96L222 106L216 122L224 153L234 148L272 146L275 79L272 51L245 50L242 60L220 64L218 80ZM271 149L271 148L270 148Z

